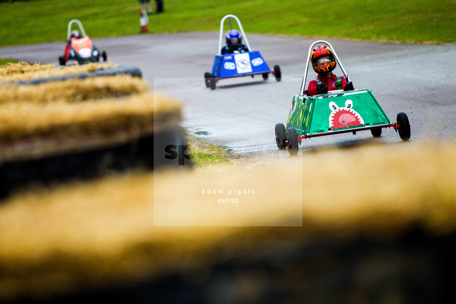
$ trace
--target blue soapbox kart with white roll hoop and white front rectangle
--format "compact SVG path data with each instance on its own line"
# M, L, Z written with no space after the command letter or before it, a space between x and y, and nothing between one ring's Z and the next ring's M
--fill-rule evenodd
M229 27L232 30L231 18L236 20L248 51L234 51L233 53L222 54L224 22L228 19ZM274 70L271 70L261 53L259 51L252 51L242 25L236 16L226 15L223 17L220 22L219 50L217 55L215 55L212 73L204 73L206 87L215 90L216 83L224 78L262 75L263 79L267 80L269 74L273 74L276 80L280 81L282 77L280 66L275 65Z

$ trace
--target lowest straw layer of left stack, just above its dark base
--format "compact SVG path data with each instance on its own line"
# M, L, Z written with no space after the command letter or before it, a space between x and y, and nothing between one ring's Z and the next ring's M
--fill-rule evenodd
M21 147L28 147L23 153L30 155L33 143L39 147L42 143L49 145L57 141L61 149L68 152L64 142L71 143L76 138L81 148L87 149L91 145L100 148L105 145L99 141L102 137L111 137L118 143L151 135L154 118L158 120L155 122L158 128L165 128L168 121L175 124L180 119L178 103L159 96L154 100L149 92L83 102L7 102L0 108L0 159L3 161L23 159ZM130 138L117 137L117 133L129 134Z

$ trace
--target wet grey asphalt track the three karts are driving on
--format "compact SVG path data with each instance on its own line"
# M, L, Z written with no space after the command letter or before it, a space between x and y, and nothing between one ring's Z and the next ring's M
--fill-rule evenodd
M203 75L212 70L218 32L136 35L94 39L108 59L141 69L154 93L182 101L183 127L190 134L237 153L285 157L275 144L274 126L286 123L293 95L299 92L306 56L314 39L249 35L253 50L272 68L279 64L282 81L272 75L222 79L206 88ZM392 122L405 112L410 142L443 144L456 139L456 45L404 45L328 40L358 89L370 89ZM58 64L64 41L0 48L0 58ZM341 75L340 68L335 73ZM309 70L308 80L315 77ZM299 154L322 148L401 142L393 128L380 138L369 131L303 140Z

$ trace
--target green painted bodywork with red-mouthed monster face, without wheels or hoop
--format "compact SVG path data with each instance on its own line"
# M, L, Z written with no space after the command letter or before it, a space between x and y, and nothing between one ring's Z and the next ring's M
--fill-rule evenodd
M346 103L349 104L350 101L351 105L348 105L347 108ZM330 102L333 107L330 107ZM347 111L350 108L355 114L359 114L360 116L360 119L351 122L351 124L355 125L349 125L350 123L346 123L343 120L343 117L348 118L348 120L355 120L355 116L359 117L353 115L353 112L350 112L351 114L348 113ZM335 114L336 116L339 115L339 117L336 118L336 123L334 123L333 127L330 127L330 115L333 110L340 112L339 114ZM344 114L345 116L341 117L340 115L345 112L348 114ZM312 135L343 129L355 129L367 125L375 126L390 123L390 120L370 90L333 91L329 94L311 97L295 95L288 114L286 128L293 127L301 135Z

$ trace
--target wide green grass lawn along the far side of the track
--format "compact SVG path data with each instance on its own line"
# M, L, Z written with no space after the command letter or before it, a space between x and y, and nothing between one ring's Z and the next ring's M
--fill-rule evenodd
M154 3L154 1L152 1ZM455 0L165 0L151 33L218 31L226 14L246 33L402 43L455 43ZM0 46L64 41L81 20L92 38L139 32L137 1L31 0L0 3ZM228 23L227 25L228 26Z

